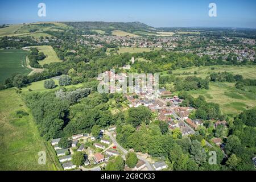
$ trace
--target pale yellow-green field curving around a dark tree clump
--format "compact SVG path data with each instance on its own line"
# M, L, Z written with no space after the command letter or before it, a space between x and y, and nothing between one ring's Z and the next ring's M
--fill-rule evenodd
M61 62L56 52L51 46L31 46L38 48L39 52L43 52L46 55L46 59L39 61L40 65Z

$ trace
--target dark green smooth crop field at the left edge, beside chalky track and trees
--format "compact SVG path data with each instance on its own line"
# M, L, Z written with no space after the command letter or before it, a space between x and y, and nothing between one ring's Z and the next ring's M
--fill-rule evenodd
M26 67L28 53L21 49L0 50L0 82L5 81L13 73L27 75L32 71Z

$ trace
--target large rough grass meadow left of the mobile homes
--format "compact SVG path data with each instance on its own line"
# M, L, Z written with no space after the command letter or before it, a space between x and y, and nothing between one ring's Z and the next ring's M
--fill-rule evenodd
M61 170L49 143L40 137L30 109L15 89L0 91L0 171ZM17 110L29 115L19 118ZM38 164L38 152L46 151L46 165Z

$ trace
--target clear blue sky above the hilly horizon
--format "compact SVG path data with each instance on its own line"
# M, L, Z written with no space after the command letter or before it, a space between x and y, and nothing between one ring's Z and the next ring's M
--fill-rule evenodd
M38 4L46 3L46 17ZM208 15L209 3L217 17ZM0 1L0 24L38 21L143 22L154 27L256 28L255 0L9 0Z

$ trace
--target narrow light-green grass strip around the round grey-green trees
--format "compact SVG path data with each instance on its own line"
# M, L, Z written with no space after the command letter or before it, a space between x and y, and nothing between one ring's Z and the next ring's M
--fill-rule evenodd
M53 79L55 81L55 85L59 85L59 80L57 79ZM54 89L46 89L44 88L44 81L46 80L42 80L42 81L37 81L37 82L32 82L31 84L27 85L26 87L22 88L22 92L23 93L28 93L28 92L42 92L42 91L47 91L47 90L57 90L59 89L60 87L59 86L56 86L56 88ZM75 87L75 88L79 88L81 87L82 84L77 84L77 85L68 85L68 86L65 86L65 88L72 88L72 87ZM29 91L29 90L32 90L32 91Z

